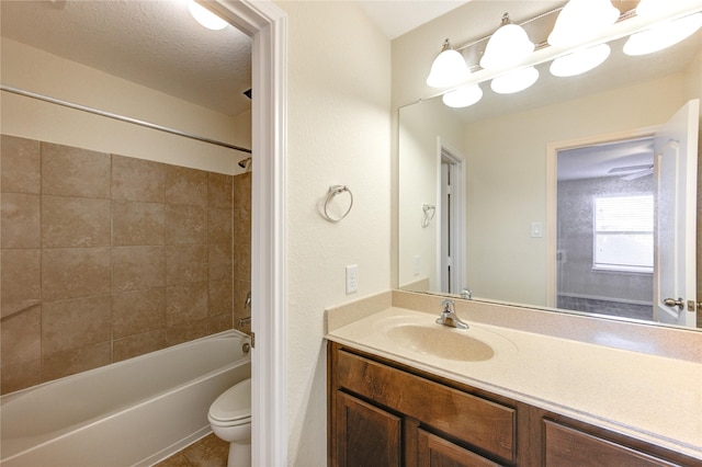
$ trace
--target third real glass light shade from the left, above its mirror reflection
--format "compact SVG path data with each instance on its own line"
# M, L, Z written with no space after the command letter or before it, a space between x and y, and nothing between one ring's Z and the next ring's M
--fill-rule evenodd
M548 44L554 47L585 44L605 32L619 16L620 11L611 0L570 0L558 13Z

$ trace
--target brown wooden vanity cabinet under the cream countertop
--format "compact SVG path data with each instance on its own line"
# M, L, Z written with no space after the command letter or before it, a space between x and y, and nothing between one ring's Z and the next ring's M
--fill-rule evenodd
M328 465L690 466L702 460L328 342Z

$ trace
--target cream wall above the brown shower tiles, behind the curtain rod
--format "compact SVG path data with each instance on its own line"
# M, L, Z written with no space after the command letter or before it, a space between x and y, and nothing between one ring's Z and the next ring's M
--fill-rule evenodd
M230 117L131 81L2 38L2 83L251 147L251 113ZM2 92L4 134L234 174L246 152Z

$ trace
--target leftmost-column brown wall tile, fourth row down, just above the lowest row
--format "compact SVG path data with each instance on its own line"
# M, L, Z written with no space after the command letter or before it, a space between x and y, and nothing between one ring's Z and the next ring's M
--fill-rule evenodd
M37 305L2 321L0 364L21 365L42 358L42 306Z

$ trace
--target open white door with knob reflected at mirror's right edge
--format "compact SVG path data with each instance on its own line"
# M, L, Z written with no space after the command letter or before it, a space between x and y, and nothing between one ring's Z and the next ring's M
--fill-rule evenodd
M697 173L700 100L688 102L656 134L658 171L654 318L694 327Z

